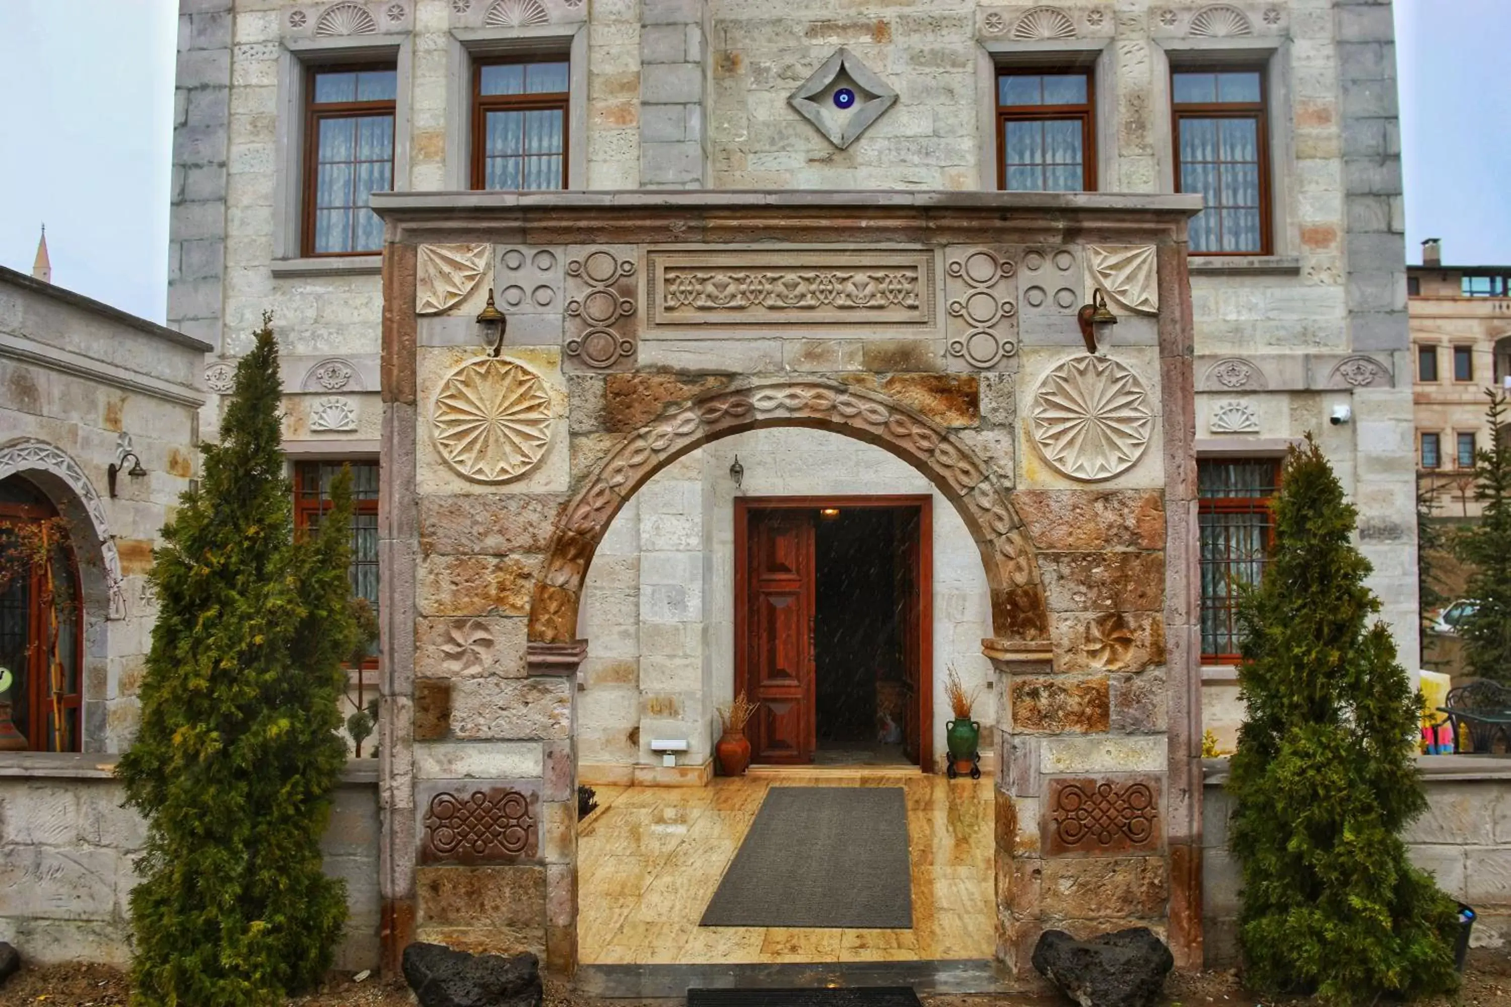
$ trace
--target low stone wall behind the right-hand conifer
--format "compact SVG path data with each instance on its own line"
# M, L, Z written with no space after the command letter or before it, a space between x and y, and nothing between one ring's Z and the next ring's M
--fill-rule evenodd
M1511 941L1511 759L1431 755L1419 761L1428 809L1405 832L1411 862L1448 895L1475 909L1470 959L1505 960ZM1231 800L1222 791L1227 759L1209 759L1203 802L1203 928L1209 968L1239 960L1242 886L1227 851Z

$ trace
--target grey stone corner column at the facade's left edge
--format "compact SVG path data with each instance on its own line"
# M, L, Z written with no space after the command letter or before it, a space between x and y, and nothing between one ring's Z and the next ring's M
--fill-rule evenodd
M219 347L234 15L231 0L180 0L178 11L168 325Z

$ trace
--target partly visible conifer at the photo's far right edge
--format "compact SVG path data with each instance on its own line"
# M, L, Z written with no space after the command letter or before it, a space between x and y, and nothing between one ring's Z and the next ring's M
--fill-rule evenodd
M1454 536L1469 565L1466 590L1479 608L1458 625L1464 660L1476 678L1511 682L1511 436L1502 436L1508 400L1485 390L1490 445L1475 454L1475 500L1479 522Z

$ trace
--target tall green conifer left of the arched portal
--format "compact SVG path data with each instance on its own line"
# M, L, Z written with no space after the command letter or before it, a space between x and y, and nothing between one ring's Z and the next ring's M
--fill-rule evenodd
M131 892L133 1004L283 1004L329 968L346 886L320 835L346 762L351 474L295 540L278 344L263 316L221 444L163 528L142 726L119 764L148 835Z

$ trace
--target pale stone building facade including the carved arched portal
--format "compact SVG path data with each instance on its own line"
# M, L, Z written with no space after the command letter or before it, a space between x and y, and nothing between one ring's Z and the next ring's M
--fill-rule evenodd
M213 344L219 393L273 309L290 457L381 462L385 947L570 968L573 781L710 771L743 639L736 515L887 494L932 513L929 691L952 664L990 685L1003 959L1041 925L1037 886L1080 873L1200 962L1195 756L1238 722L1228 575L1257 569L1295 438L1349 486L1416 649L1390 14L183 0L169 322ZM1009 157L1038 119L1005 95L1049 77L1080 82L1034 101L1080 124L1068 187L1095 195L997 192L1068 171L1044 137ZM387 133L316 143L343 116ZM1203 116L1253 124L1248 146L1203 160L1183 133ZM1183 157L1242 162L1256 193L1210 190L1234 216L1198 217L1197 254ZM468 192L526 178L567 192ZM381 233L363 213L385 189ZM1097 297L1117 323L1083 337ZM499 388L530 406L515 447L468 454L465 402ZM1138 403L1095 459L1055 418L1092 388ZM935 761L941 713L919 728ZM1157 836L1052 848L1056 794L1092 779L1154 794ZM437 797L511 790L539 812L527 850L435 847ZM485 935L468 906L500 892L523 915Z

